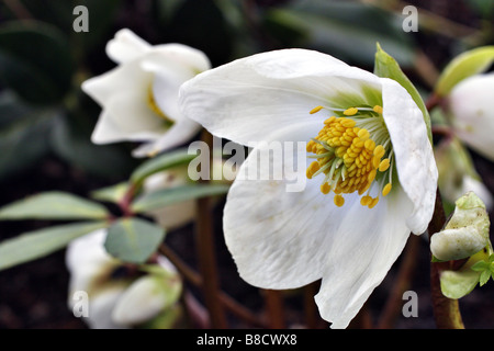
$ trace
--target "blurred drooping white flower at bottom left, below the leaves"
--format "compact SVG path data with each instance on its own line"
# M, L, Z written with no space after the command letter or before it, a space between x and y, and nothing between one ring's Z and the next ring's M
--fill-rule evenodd
M104 249L105 229L82 236L67 247L70 274L68 306L77 308L78 292L87 294L89 307L85 321L92 329L131 328L151 320L169 307L168 291L180 288L175 267L158 257L158 271L176 275L173 286L159 275L128 272L128 267ZM179 284L179 286L176 286ZM172 292L175 294L175 292Z

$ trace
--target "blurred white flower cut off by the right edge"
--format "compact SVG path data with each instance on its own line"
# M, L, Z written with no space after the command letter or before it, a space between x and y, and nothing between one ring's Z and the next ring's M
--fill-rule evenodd
M494 160L494 73L460 81L448 98L451 122L459 138Z

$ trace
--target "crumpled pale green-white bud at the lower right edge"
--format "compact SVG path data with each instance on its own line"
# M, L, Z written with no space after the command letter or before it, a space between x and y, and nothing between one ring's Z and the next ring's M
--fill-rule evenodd
M469 192L457 200L454 213L445 228L431 236L430 250L442 261L468 258L489 245L489 228L484 203Z

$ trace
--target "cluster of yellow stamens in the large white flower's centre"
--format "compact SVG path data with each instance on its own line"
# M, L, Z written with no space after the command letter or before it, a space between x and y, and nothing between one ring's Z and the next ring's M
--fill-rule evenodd
M317 106L311 114L323 109ZM308 157L316 160L308 166L306 176L312 179L324 173L321 191L333 191L337 206L345 204L344 194L358 192L360 204L372 208L380 194L386 196L392 188L393 148L382 107L350 107L341 112L341 116L324 121L319 134L307 143L307 152L314 154ZM373 189L375 183L378 192Z

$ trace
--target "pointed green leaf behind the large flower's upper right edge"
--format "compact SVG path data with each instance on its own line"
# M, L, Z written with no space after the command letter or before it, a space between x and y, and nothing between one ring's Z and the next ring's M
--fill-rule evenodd
M381 48L381 45L379 43L378 50L375 53L374 73L379 77L391 78L406 89L406 91L411 94L412 99L415 101L418 109L420 109L422 114L424 115L424 122L427 127L429 140L431 141L433 134L430 131L430 116L424 103L424 100L422 100L420 93L400 68L398 63L392 56L385 53Z

